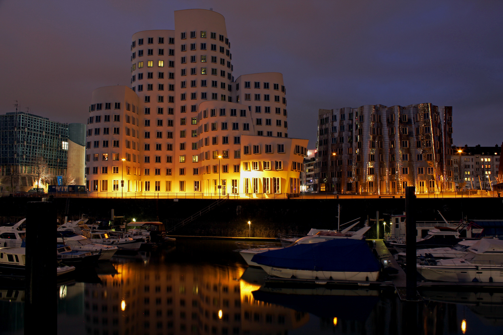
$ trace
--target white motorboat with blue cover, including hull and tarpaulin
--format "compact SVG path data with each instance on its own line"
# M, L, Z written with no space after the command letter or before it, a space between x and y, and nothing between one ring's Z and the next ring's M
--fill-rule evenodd
M270 250L251 261L281 278L376 281L381 269L367 242L353 239Z

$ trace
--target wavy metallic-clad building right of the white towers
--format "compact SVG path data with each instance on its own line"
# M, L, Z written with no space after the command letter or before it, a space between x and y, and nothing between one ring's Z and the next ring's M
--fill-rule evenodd
M319 109L317 139L314 191L454 190L450 106Z

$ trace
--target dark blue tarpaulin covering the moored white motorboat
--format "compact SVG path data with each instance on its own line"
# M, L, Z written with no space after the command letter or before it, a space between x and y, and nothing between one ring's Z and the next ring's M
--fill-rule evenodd
M256 254L252 262L292 270L374 272L380 263L364 240L333 239Z

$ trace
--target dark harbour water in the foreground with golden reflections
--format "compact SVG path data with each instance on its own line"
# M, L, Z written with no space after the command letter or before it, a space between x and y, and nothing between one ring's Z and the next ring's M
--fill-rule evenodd
M60 284L58 334L408 334L408 307L391 290L267 288L235 244L177 241L114 257ZM85 282L82 282L85 281ZM23 333L24 291L0 290L0 331ZM423 291L419 334L502 334L500 292ZM43 332L43 326L41 327Z

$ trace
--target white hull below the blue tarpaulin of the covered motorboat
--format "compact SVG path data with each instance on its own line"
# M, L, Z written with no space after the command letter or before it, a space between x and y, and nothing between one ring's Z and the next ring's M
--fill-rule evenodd
M310 271L270 267L260 265L269 275L280 278L297 279L326 279L326 280L353 280L376 281L379 271L376 272L342 272L342 271Z

